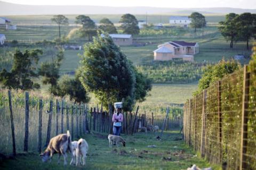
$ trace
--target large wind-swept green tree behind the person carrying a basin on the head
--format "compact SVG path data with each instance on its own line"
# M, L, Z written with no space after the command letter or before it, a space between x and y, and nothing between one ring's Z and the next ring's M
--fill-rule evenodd
M136 100L145 98L145 91L151 89L149 81L137 75L137 70L110 37L98 36L84 49L80 80L105 107L124 98L124 110L131 111Z

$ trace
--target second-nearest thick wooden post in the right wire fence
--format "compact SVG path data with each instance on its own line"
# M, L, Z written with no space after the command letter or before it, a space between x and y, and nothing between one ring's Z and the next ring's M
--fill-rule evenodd
M222 117L221 117L221 81L218 81L218 121L219 121L219 161L222 163Z

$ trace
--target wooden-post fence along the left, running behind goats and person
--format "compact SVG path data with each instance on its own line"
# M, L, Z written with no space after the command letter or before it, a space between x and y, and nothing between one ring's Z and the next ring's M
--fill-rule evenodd
M102 105L89 108L75 105L60 98L44 97L35 91L0 90L0 156L15 156L22 152L41 152L55 135L70 131L72 139L86 136L86 133L113 133L114 111L109 105L103 111ZM170 117L163 124L163 118L146 112L123 113L122 133L132 135L142 126L158 125L165 130L182 126L180 117ZM107 135L106 135L107 139Z

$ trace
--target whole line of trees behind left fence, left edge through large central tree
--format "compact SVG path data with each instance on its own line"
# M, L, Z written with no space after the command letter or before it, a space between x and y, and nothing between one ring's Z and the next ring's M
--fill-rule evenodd
M35 78L42 78L43 84L50 84L49 92L55 96L69 96L76 103L87 103L87 91L93 92L104 106L125 99L125 111L131 111L136 101L143 101L151 90L151 81L139 73L110 37L98 35L93 43L85 46L81 67L75 78L60 77L60 66L64 52L59 50L50 61L38 65L42 50L21 52L15 50L10 71L0 72L2 87L9 89L39 89Z

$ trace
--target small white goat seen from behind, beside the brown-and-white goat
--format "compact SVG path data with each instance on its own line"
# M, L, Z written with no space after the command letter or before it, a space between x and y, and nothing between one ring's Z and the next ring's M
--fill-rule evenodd
M85 158L87 151L89 149L88 143L84 139L79 139L78 141L73 141L73 156L76 157L76 166L78 165L78 160L79 163L82 165L85 165ZM81 161L81 158L83 158L83 163ZM73 164L74 159L71 159L70 165Z

